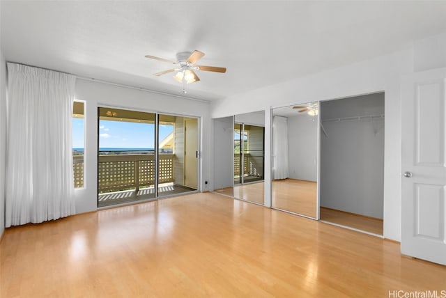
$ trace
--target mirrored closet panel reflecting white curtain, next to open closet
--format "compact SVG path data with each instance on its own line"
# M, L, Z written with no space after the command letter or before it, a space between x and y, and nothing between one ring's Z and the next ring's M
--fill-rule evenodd
M272 109L272 207L318 217L318 103Z

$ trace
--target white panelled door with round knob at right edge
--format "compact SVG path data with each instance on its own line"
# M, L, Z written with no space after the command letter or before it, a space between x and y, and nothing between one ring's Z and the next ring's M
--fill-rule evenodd
M401 85L401 253L446 265L446 68Z

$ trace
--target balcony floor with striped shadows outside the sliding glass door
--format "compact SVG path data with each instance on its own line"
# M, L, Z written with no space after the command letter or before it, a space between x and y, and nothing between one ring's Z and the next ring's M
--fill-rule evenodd
M182 194L188 191L195 191L190 187L183 185L174 185L174 183L164 183L158 187L158 196L170 196L172 194ZM106 207L117 204L132 203L141 200L155 198L155 187L147 187L135 191L134 189L125 191L114 191L105 194L99 194L98 207Z

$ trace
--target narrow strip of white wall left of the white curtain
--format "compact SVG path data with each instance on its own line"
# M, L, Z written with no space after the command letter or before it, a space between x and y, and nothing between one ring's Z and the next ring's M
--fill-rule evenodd
M0 238L5 230L6 61L0 48Z

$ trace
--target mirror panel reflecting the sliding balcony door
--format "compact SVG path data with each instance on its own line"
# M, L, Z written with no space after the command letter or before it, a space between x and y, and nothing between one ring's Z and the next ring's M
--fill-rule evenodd
M265 111L234 116L234 197L264 203Z

